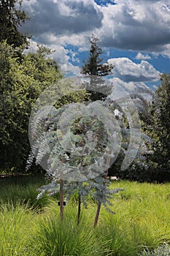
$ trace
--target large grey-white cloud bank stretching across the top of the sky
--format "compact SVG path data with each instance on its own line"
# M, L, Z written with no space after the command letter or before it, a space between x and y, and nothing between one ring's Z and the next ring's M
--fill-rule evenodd
M52 40L63 44L71 39L81 48L85 48L87 36L95 33L104 47L170 57L169 0L101 2L107 4L99 6L94 0L23 1L31 19L22 30L45 44Z

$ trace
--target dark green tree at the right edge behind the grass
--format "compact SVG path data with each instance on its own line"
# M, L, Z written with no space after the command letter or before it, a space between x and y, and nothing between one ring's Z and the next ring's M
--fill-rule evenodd
M142 141L134 162L121 170L121 157L109 173L131 181L170 181L170 74L161 75L161 85L152 94L152 102L140 113Z

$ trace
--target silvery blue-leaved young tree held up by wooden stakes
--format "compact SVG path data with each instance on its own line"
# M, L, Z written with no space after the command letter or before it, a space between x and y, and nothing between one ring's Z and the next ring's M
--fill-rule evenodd
M120 152L122 133L109 101L69 103L54 108L63 97L63 87L71 91L82 89L80 79L61 80L47 89L36 102L30 118L31 154L27 167L36 164L47 170L51 183L39 188L45 192L60 193L60 213L63 219L63 198L78 192L77 223L80 223L81 204L87 204L90 195L98 206L94 226L97 225L101 204L109 209L112 194L122 189L109 189L109 166ZM61 95L52 99L55 89ZM53 92L53 93L52 93ZM64 92L64 97L66 91ZM43 102L43 100L44 102ZM47 104L48 102L48 104Z

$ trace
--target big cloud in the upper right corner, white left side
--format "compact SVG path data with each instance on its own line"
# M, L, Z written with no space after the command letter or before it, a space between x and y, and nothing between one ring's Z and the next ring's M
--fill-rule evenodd
M102 7L103 45L124 50L145 50L169 55L170 1L115 0ZM166 51L165 51L166 49Z

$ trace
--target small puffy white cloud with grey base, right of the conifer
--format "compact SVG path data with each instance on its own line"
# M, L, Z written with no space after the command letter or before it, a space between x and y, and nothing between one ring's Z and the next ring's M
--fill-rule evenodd
M115 58L107 62L115 66L112 74L125 82L155 81L160 77L160 73L147 61L136 64L128 58Z

